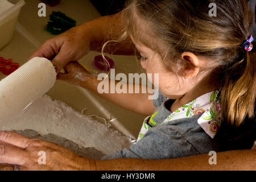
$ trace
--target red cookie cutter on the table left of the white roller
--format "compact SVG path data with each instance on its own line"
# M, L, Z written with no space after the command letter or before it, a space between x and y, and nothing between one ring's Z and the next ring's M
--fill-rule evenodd
M13 63L13 60L5 60L3 57L0 57L0 72L3 75L10 75L19 68L19 63Z

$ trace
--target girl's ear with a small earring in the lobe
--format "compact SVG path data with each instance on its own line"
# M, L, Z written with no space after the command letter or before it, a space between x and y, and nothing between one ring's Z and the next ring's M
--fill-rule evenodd
M199 73L199 58L192 52L184 52L180 59L182 63L180 69L181 76L189 78Z

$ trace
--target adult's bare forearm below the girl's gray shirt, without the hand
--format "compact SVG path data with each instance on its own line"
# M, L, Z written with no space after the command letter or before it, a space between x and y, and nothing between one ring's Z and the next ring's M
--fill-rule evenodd
M164 171L197 171L197 170L256 170L256 150L234 150L217 152L217 164L209 164L208 154L187 156L176 159L112 159L96 161L96 169L105 170L164 170Z

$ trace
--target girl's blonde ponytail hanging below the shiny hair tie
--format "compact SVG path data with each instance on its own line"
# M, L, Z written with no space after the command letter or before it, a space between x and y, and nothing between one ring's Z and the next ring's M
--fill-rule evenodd
M244 50L243 50L244 51ZM243 53L244 54L244 53ZM226 72L221 90L222 115L232 126L255 116L256 52L246 52Z

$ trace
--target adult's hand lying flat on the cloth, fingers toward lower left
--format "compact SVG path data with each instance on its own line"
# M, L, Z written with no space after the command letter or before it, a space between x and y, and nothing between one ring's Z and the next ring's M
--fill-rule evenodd
M45 164L40 163L45 152ZM42 155L42 156L40 156ZM41 160L42 159L42 160ZM0 163L2 170L89 170L91 159L84 158L55 143L30 139L9 131L0 131ZM44 161L44 160L43 160Z

